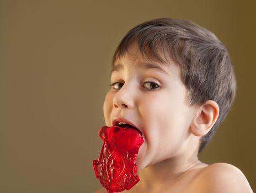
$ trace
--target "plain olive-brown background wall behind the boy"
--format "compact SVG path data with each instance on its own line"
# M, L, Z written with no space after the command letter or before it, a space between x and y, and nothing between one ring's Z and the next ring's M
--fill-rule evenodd
M111 57L135 25L189 19L230 51L234 106L200 155L236 165L256 190L253 1L0 0L0 192L92 192ZM185 119L185 117L184 117Z

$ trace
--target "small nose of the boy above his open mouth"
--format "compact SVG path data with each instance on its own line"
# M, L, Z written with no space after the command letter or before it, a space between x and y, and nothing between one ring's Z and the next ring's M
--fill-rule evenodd
M114 107L121 109L133 108L135 103L133 91L128 85L124 84L113 98Z

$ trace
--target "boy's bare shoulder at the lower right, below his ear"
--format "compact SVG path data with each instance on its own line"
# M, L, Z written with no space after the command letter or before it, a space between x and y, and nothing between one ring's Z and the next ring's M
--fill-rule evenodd
M204 191L209 193L253 193L246 176L231 164L215 163L205 167L201 170L199 181L204 184Z

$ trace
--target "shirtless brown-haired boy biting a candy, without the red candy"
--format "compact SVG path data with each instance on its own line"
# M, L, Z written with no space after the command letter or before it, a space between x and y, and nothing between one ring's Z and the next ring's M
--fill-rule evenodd
M106 126L129 123L145 140L135 160L140 181L124 192L253 192L233 165L198 159L235 91L228 52L210 31L168 18L131 29L104 101Z

